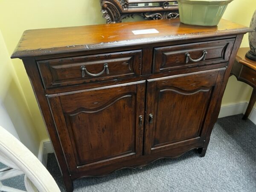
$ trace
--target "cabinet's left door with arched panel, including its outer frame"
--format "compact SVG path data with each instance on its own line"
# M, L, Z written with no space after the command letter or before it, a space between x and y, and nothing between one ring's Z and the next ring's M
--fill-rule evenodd
M48 96L70 172L142 155L145 81Z

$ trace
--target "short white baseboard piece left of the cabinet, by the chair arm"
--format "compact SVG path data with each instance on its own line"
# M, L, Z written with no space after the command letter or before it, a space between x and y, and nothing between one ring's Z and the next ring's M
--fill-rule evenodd
M41 140L40 147L38 151L38 159L42 162L42 164L46 167L47 166L47 154L54 153L52 148L52 143L49 139Z

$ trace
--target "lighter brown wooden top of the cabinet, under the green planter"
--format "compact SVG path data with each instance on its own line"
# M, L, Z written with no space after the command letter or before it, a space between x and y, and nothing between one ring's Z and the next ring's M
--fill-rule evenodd
M134 35L132 32L144 29L156 29L158 33ZM166 19L33 29L23 33L12 54L12 58L36 57L67 52L107 49L111 47L237 35L250 31L248 27L223 19L218 26L211 27L185 25L180 23L179 19Z

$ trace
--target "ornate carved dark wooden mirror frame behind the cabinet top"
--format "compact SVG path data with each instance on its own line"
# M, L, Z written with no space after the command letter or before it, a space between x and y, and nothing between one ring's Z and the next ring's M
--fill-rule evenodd
M175 0L100 0L107 23L120 23L126 17L140 15L146 20L179 17Z

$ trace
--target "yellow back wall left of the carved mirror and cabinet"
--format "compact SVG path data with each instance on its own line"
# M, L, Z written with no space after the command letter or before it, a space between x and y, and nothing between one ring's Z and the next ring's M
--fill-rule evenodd
M89 6L90 5L90 6ZM23 31L105 23L98 0L0 0L0 29L12 54ZM12 60L40 140L47 132L22 61Z

